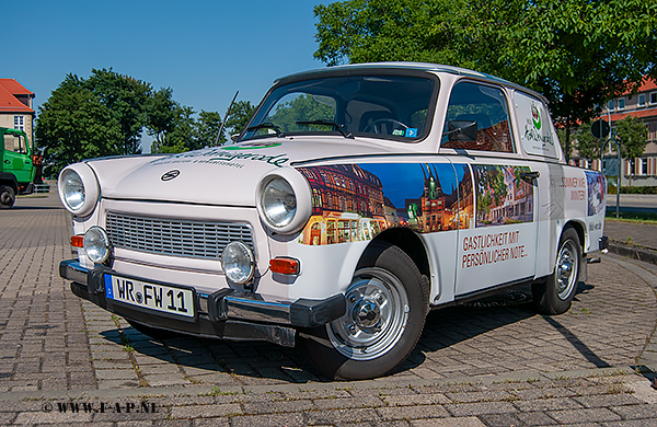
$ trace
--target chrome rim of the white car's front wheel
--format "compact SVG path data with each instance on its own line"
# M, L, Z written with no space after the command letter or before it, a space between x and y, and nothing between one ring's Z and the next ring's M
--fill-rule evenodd
M372 360L390 351L408 321L404 285L384 269L364 268L345 296L347 312L326 325L333 347L354 360Z

